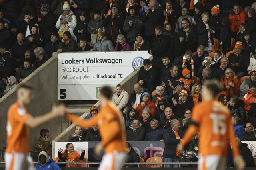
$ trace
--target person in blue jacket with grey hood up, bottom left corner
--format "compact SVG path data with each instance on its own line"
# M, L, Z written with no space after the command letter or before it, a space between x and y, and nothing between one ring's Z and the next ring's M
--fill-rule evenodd
M41 151L38 155L38 164L36 164L36 170L61 170L61 169L54 162L54 160L49 159L49 156L46 152Z

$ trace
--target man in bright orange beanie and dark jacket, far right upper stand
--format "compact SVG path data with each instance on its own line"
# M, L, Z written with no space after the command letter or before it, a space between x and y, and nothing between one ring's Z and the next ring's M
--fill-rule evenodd
M250 57L246 57L245 49L242 46L242 42L238 41L235 44L233 53L228 56L228 60L234 72L237 73L238 77L246 76L247 68L250 63Z

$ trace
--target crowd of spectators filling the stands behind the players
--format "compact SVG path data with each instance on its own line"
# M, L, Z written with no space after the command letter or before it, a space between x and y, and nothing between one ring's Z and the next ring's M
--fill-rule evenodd
M0 7L0 97L52 52L147 50L153 60L143 61L134 92L117 85L112 98L128 141L164 141L164 160L177 162L176 145L209 79L220 81L218 100L232 113L238 145L256 140L255 0L8 0ZM37 145L49 143L45 135ZM100 141L97 125L77 126L71 141ZM198 151L197 141L188 148Z

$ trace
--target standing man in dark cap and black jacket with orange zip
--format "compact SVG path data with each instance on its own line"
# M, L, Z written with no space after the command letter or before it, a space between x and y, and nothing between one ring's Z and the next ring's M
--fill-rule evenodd
M104 14L105 20L103 20L102 25L106 28L105 34L108 39L116 45L116 37L120 33L123 33L124 16L122 15L121 9L117 4L111 5L111 14Z

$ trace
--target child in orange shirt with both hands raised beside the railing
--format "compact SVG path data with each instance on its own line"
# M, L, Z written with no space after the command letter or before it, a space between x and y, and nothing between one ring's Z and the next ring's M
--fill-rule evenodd
M85 150L82 149L82 153L81 155L74 151L74 145L72 143L68 143L66 145L66 150L64 150L60 148L59 152L58 152L58 157L60 159L60 161L65 161L65 162L77 162L78 159L83 160L84 159L84 155L85 155ZM68 164L66 164L66 167L68 167ZM70 164L70 167L78 167L77 164Z

